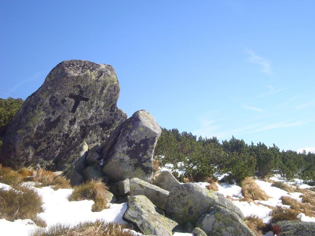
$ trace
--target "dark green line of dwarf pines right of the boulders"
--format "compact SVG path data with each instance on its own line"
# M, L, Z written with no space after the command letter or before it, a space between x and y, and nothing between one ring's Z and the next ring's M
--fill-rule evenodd
M248 145L233 136L219 143L216 137L197 138L192 133L162 128L155 158L162 165L173 164L174 169L184 166L185 175L194 181L203 181L206 177L215 180L227 173L226 180L235 179L240 183L246 177L269 177L279 173L287 180L300 178L309 184L315 183L315 154L280 151L275 144L267 147L261 142Z

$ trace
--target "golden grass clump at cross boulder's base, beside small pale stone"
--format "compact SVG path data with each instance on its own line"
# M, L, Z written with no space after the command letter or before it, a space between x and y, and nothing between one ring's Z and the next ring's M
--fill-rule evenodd
M36 187L54 186L54 190L71 188L70 181L66 177L56 176L54 172L44 169L33 171L32 181L41 183L41 185L37 185Z

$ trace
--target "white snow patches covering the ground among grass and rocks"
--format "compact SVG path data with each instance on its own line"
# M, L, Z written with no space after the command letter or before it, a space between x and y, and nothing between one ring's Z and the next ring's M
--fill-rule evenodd
M181 168L180 165L177 165ZM162 170L170 170L174 166L169 164ZM178 170L184 171L184 170ZM285 182L279 175L275 175L270 178L274 181ZM268 216L269 212L272 211L267 206L283 206L289 207L288 205L283 205L280 198L281 196L289 196L294 199L301 201L301 193L288 193L280 188L271 186L272 183L264 182L262 180L256 180L256 183L264 190L270 199L266 201L254 201L251 203L245 201L238 201L238 199L243 198L242 188L236 183L220 183L217 184L219 193L223 194L233 200L233 203L238 206L243 212L244 216L249 216L251 214L259 216L263 219L263 222L267 223L270 220ZM288 182L286 182L288 183ZM295 182L289 182L289 184L294 184ZM310 188L311 186L304 184L301 180L296 179L296 183L300 188ZM29 186L33 186L34 183L27 182ZM209 183L198 182L200 186L205 188ZM6 190L11 189L9 185L0 183L0 188L5 188ZM35 188L35 187L34 187ZM76 225L79 222L85 221L95 221L96 219L103 219L107 222L125 223L123 220L123 215L127 210L127 203L122 204L111 204L109 209L105 209L100 212L92 212L91 207L94 204L92 200L83 201L68 201L68 197L72 194L73 189L58 189L54 191L50 187L35 188L39 195L43 197L44 204L42 205L43 212L39 213L40 216L49 226L56 223L64 223L69 225ZM315 222L315 217L305 216L300 214L301 220L305 222ZM29 232L37 228L36 224L30 219L19 219L14 222L6 221L0 219L0 228L3 235L19 235L28 236ZM135 232L134 232L135 233ZM135 233L135 236L141 236L140 233ZM266 235L272 235L272 233L266 233ZM192 236L191 233L175 233L174 236Z

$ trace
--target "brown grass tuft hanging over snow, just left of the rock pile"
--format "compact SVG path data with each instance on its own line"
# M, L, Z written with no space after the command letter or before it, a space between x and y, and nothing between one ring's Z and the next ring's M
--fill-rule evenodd
M92 205L92 211L102 211L109 208L106 191L108 187L101 180L90 180L82 185L74 186L69 201L93 200L95 203Z

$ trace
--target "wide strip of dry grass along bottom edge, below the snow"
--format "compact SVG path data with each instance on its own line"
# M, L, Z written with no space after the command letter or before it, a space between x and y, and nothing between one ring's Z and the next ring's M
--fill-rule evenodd
M30 236L134 236L133 233L123 231L125 225L107 223L102 220L79 223L74 227L57 224L45 229L36 229Z

